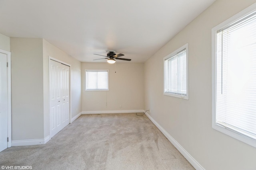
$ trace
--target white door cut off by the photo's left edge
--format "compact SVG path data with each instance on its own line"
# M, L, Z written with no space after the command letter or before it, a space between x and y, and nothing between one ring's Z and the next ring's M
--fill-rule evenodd
M0 152L7 148L8 137L8 88L7 55L0 53Z

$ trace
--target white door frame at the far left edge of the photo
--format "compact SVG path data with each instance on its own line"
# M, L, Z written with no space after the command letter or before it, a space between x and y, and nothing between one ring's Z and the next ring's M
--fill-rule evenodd
M7 137L9 139L9 141L7 142L7 147L10 148L12 146L12 93L11 93L11 52L9 51L5 51L0 49L0 53L6 54L7 56L7 63L8 63L8 67L7 67L7 88L8 88L8 101L7 101L7 112L8 112L8 122L7 122Z

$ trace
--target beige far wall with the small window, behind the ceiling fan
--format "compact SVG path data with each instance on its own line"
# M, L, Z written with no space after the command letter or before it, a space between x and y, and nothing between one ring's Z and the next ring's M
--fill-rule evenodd
M109 70L109 91L85 91L85 69ZM119 108L120 105L122 108ZM144 64L82 63L82 111L138 110L143 108Z

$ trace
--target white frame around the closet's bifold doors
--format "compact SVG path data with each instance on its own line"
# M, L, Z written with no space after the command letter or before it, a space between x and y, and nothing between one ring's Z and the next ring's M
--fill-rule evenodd
M49 67L49 74L48 74L48 87L49 87L49 137L51 136L50 135L50 132L51 132L51 125L50 125L50 119L51 119L51 115L50 115L50 60L53 60L53 61L56 61L58 63L62 63L62 64L65 64L67 66L69 66L69 123L71 123L71 88L70 88L70 72L71 72L71 65L68 64L68 63L65 63L64 61L61 61L61 60L58 60L54 57L51 57L49 56L49 61L48 61L48 67Z

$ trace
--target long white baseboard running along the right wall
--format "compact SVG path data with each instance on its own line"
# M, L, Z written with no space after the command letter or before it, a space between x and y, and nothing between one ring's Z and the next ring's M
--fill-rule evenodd
M202 167L177 141L175 141L175 139L167 133L162 126L160 126L147 112L145 114L196 170L205 170L204 167Z

